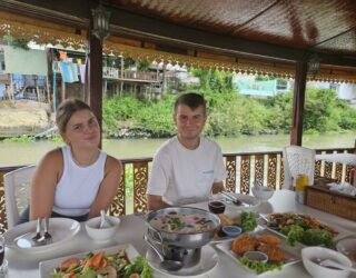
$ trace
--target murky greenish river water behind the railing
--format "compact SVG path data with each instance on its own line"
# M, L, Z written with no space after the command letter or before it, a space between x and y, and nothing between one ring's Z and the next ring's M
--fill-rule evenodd
M215 138L222 152L275 151L289 145L289 135L239 136ZM308 148L353 148L356 133L304 136L303 146ZM119 158L152 157L166 139L117 139L103 140L102 148ZM0 142L0 167L37 163L49 150L61 146L52 141Z

